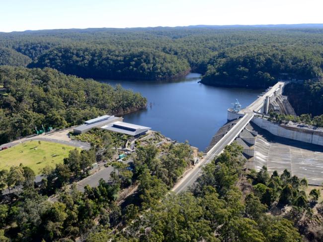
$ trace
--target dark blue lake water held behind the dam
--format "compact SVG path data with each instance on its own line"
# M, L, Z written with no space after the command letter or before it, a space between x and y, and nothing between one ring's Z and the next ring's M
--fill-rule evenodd
M102 82L140 92L148 99L146 110L124 115L124 121L152 127L163 135L204 150L212 136L227 122L227 109L239 100L242 107L252 103L263 90L222 88L197 83L200 74L190 73L177 82Z

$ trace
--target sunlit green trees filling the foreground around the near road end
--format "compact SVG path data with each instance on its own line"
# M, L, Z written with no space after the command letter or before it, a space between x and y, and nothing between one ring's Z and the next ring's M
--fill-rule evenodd
M104 135L106 136L106 135ZM108 151L109 137L103 146ZM1 189L20 185L0 204L0 240L72 242L319 242L323 239L320 190L306 192L306 179L285 170L269 174L245 169L242 147L233 143L204 169L187 192L169 192L189 167L188 144L140 146L134 170L115 163L110 182L85 186L73 183L95 161L90 151L71 151L64 164L47 169L43 185L33 186L27 167L0 171ZM109 153L109 152L107 152ZM85 163L84 163L85 161ZM44 171L46 172L46 171ZM57 177L58 179L54 179ZM71 184L71 189L66 187ZM138 184L133 198L118 203L120 191ZM48 195L56 189L58 201Z

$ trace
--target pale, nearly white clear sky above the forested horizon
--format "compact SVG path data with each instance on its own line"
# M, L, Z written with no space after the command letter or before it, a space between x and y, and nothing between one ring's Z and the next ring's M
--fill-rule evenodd
M323 23L323 0L0 0L0 32Z

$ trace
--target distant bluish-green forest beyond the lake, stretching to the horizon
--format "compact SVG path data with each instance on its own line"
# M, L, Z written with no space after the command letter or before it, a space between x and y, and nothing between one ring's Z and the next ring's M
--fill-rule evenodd
M322 43L319 26L40 30L0 33L0 64L97 79L174 80L195 71L204 84L228 87L301 80L290 90L311 100L291 103L314 117L323 105Z

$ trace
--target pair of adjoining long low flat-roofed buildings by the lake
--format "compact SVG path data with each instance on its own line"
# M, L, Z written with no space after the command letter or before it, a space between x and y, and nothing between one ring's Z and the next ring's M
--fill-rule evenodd
M73 129L73 132L75 134L81 134L89 131L92 128L102 128L105 130L124 133L132 136L145 134L148 130L151 129L150 127L123 122L122 117L104 115L95 119L85 121L84 124L75 127Z

